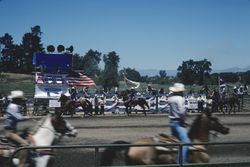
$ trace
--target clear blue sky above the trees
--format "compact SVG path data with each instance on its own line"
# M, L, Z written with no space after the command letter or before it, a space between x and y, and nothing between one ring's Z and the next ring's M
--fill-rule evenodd
M0 0L0 36L20 44L39 25L42 43L115 51L120 67L176 70L189 59L213 69L250 65L249 0Z

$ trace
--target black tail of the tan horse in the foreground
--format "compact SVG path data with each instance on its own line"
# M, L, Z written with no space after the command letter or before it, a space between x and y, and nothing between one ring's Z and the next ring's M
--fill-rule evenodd
M119 141L116 141L112 144L130 144L129 142L126 142L126 141L122 141L122 140L119 140ZM117 152L120 152L120 155L123 154L121 157L124 158L124 161L126 161L127 159L127 151L128 151L128 146L121 146L121 147L116 147L116 146L113 146L113 147L107 147L103 152L102 152L102 155L101 155L101 162L100 162L100 165L101 166L111 166L112 163L113 163L113 160L116 158L116 153Z

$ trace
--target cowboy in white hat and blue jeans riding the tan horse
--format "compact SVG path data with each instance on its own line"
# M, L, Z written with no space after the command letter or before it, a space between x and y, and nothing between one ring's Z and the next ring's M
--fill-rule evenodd
M188 137L187 129L185 127L185 118L187 116L187 109L185 107L184 91L185 86L182 83L175 83L169 88L172 96L168 98L168 104L170 105L170 128L172 135L177 137L181 143L190 143ZM178 160L180 153L178 155ZM187 163L188 161L188 146L183 146L182 149L182 163ZM179 162L181 163L181 162Z

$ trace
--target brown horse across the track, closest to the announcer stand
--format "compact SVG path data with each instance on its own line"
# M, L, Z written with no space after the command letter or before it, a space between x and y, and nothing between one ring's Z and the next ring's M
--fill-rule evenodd
M92 115L92 104L86 98L80 98L77 101L71 100L68 96L61 94L61 97L58 99L61 102L61 107L64 114L74 115L76 108L82 107L84 115Z

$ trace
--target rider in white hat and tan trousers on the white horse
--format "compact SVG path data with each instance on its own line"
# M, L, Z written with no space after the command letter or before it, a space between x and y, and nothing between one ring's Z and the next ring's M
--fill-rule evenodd
M6 109L6 118L4 121L4 129L5 129L6 137L8 139L11 139L17 142L18 144L22 146L28 145L28 142L16 133L17 123L19 121L22 121L28 118L27 116L22 116L22 114L20 113L21 104L26 99L24 97L24 93L23 91L20 91L20 90L14 90L14 91L11 91L11 94L10 96L8 96L8 98L12 99L12 101Z

